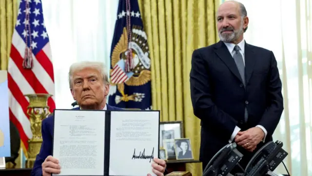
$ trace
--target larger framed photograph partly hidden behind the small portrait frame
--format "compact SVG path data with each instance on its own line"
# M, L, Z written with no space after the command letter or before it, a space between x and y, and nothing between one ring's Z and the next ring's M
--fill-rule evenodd
M160 122L159 124L159 147L164 146L163 140L165 139L180 139L183 137L184 137L184 133L183 133L182 121Z

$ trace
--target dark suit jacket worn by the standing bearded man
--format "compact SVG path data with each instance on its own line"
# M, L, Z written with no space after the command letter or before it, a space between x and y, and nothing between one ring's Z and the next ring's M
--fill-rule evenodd
M203 167L229 143L235 126L244 131L262 125L268 132L265 142L273 140L272 134L284 107L282 84L272 51L245 43L245 80L246 88L223 42L194 51L191 98L194 114L201 120L199 159ZM249 114L247 123L245 107ZM257 149L261 145L263 142ZM251 155L243 158L246 157L250 159Z

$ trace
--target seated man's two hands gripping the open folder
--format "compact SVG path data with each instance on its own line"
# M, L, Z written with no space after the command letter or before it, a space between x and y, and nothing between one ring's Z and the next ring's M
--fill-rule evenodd
M48 156L42 163L42 176L51 176L51 174L60 173L59 160L53 156ZM158 158L154 158L154 163L152 163L153 172L156 176L164 176L166 161ZM151 176L147 174L147 176Z

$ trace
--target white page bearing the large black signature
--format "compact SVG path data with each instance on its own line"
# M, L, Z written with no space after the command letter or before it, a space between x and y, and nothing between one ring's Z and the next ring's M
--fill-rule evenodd
M156 176L152 163L158 141L158 111L112 111L109 175Z

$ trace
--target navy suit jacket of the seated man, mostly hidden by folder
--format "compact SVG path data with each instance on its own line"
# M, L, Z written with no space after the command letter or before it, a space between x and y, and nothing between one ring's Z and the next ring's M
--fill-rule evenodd
M113 107L107 105L107 110L123 110L121 108ZM74 108L79 109L79 108ZM42 120L42 144L39 154L36 157L36 161L31 172L31 176L42 176L42 167L41 164L44 162L45 158L49 155L52 155L52 139L53 139L53 130L54 129L54 115Z

